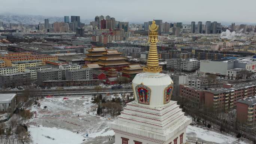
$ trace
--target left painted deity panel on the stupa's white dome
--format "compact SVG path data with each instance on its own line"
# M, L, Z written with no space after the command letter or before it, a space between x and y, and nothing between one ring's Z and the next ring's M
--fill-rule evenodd
M135 87L135 91L137 94L137 100L140 104L150 103L151 89L149 87L140 84Z

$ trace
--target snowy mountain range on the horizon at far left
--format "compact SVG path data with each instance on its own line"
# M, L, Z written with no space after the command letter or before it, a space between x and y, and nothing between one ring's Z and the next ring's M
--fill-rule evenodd
M44 23L45 19L49 19L49 23L64 21L64 17L57 16L42 16L42 15L15 15L15 14L3 14L0 15L0 21L4 23L22 23L22 24L39 24Z

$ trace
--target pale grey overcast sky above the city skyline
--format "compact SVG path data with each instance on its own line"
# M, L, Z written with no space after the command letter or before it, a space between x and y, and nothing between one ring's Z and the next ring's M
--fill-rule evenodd
M0 0L0 13L44 16L110 15L117 21L256 23L256 0Z

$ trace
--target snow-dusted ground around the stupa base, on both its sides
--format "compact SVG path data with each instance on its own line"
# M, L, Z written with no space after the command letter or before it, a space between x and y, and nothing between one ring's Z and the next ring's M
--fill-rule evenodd
M113 144L110 117L96 116L91 97L44 98L34 104L29 125L33 144ZM45 107L46 106L46 107ZM207 137L206 137L207 136ZM230 135L188 126L187 140L204 144L246 144ZM214 141L214 142L213 142Z

